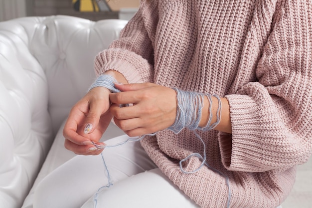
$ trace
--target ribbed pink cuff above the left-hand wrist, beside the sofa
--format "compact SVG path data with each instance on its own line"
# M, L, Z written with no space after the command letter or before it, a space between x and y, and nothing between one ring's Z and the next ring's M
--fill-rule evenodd
M128 83L153 82L153 66L142 56L128 50L109 49L95 58L95 72L99 76L108 70L121 73Z

